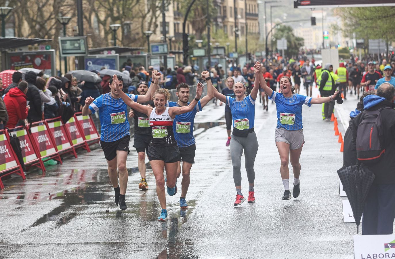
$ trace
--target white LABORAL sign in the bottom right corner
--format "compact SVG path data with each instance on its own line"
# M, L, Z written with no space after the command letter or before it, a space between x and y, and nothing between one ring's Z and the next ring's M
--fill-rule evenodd
M395 249L392 248L395 248L395 235L354 236L355 259L395 259Z

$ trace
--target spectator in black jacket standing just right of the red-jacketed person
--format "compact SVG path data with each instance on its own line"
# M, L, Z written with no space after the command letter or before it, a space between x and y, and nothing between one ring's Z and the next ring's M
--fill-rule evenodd
M41 110L41 97L40 90L36 87L37 74L33 71L28 71L25 74L25 81L28 82L28 90L26 97L30 110L27 114L27 120L29 123L41 121L42 110Z

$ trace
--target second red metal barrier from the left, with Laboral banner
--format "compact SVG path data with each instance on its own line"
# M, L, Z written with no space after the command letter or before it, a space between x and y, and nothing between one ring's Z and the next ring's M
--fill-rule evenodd
M17 136L21 144L23 162L26 166L26 170L31 166L37 166L43 173L45 172L45 166L41 160L40 152L36 150L33 145L32 137L28 133L28 130L24 126L19 126L13 129L6 130L9 135Z

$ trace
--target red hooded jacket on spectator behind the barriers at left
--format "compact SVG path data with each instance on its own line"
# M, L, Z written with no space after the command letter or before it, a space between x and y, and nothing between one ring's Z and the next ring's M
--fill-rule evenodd
M4 96L8 112L8 128L14 128L18 121L27 118L26 95L18 88L14 87Z

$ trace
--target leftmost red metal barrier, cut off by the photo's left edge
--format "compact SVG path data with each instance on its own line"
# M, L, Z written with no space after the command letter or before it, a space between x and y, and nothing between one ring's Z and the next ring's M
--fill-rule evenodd
M23 180L26 179L18 157L9 143L8 134L5 130L0 130L0 189L4 189L1 178L13 173L22 176Z

